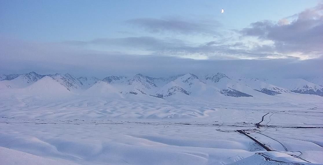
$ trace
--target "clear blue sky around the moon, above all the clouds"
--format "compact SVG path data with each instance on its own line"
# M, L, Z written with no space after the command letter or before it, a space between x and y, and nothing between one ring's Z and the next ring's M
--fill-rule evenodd
M279 20L314 7L318 0L103 0L41 1L1 0L2 35L33 41L91 40L138 33L124 21L135 18L213 18L224 29L240 29L259 20ZM224 8L225 13L220 10ZM141 32L143 33L143 32ZM144 33L143 33L144 34ZM135 35L132 35L135 36Z

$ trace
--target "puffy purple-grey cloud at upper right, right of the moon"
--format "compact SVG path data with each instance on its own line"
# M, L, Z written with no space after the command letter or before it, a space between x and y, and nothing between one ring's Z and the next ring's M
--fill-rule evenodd
M318 57L323 53L323 4L283 18L277 23L270 20L251 23L250 27L240 30L240 33L273 41L274 44L267 47L268 51Z

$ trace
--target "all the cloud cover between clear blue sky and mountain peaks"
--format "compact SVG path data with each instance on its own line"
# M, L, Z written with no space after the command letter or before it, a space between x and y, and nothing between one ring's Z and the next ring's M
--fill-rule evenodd
M322 10L321 4L277 22L257 21L250 27L222 33L221 37L214 37L219 32L217 21L179 18L127 21L151 33L176 34L171 37L152 34L41 43L0 36L0 72L68 72L101 78L187 72L250 77L317 76L323 72Z

